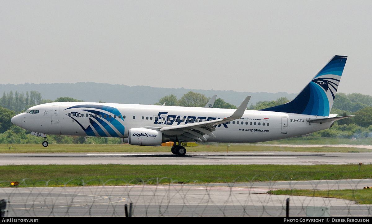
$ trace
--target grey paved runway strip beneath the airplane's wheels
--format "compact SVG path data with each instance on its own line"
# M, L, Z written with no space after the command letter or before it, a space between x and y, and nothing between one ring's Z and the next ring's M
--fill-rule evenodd
M188 152L154 153L2 153L0 165L130 164L130 165L317 165L372 163L371 153Z

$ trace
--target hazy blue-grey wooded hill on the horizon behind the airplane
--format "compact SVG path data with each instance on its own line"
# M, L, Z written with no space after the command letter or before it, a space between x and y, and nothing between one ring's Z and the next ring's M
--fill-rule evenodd
M232 90L192 90L185 88L156 88L150 86L128 86L128 85L112 85L95 82L77 82L77 83L53 83L53 84L0 84L0 94L9 92L10 90L18 92L39 91L43 99L55 100L58 97L72 97L86 102L103 101L106 103L129 103L129 104L154 104L161 97L169 94L174 94L180 98L186 92L193 91L204 94L206 97L217 95L217 98L222 98L225 102L239 106L244 98L251 95L251 100L248 104L256 104L259 101L276 100L279 97L287 97L292 99L296 94L288 94L286 92L235 92Z

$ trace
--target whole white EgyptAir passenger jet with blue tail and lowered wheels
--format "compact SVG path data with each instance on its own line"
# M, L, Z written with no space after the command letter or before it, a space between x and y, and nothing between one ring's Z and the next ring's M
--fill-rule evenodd
M234 109L166 105L55 102L36 105L12 123L47 135L118 137L123 143L161 146L186 153L182 142L256 143L306 136L352 116L330 114L347 56L334 56L290 102L263 110L246 110L250 96Z

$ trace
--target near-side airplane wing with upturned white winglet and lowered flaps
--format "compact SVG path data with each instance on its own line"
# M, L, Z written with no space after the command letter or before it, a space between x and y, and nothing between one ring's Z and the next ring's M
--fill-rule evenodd
M177 126L169 126L169 127L143 127L147 129L155 129L163 132L164 134L168 136L178 136L179 140L188 140L192 139L197 142L206 141L207 139L203 136L205 134L216 137L212 132L215 129L215 125L218 124L224 124L226 122L240 119L244 111L247 108L248 102L250 100L251 96L248 96L243 103L239 106L237 110L230 116L226 118L221 118L217 120L210 120L210 121L203 121L203 122L196 122L196 123L190 123L190 124L183 124L183 125L177 125Z

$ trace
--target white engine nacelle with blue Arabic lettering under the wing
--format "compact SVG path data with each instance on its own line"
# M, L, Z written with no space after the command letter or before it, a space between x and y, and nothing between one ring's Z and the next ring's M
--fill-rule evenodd
M128 134L128 143L138 146L161 146L161 143L168 142L169 138L157 130L145 128L131 128Z

